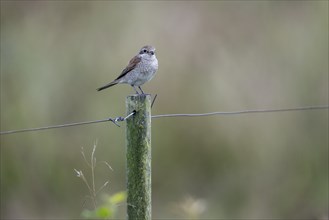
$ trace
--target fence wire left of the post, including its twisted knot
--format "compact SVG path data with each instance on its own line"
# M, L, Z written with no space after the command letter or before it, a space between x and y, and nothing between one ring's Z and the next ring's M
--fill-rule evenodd
M133 116L136 112L133 111L132 113L128 114L126 117L116 117L116 118L105 118L101 120L95 120L95 121L85 121L85 122L76 122L76 123L68 123L68 124L62 124L62 125L52 125L52 126L45 126L40 128L27 128L27 129L21 129L21 130L12 130L12 131L1 131L0 135L5 134L15 134L15 133L21 133L21 132L28 132L28 131L41 131L41 130L47 130L47 129L54 129L54 128L65 128L65 127L72 127L72 126L78 126L78 125L88 125L88 124L95 124L95 123L101 123L101 122L107 122L110 121L116 126L120 127L118 122L125 121L131 116Z

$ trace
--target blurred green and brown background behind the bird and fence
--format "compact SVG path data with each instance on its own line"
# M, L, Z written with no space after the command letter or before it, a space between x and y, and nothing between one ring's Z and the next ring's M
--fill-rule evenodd
M1 131L124 116L132 88L96 88L145 44L153 115L328 104L328 1L1 1ZM2 218L92 208L96 140L125 190L124 123L0 138ZM328 217L327 110L154 119L152 156L153 218Z

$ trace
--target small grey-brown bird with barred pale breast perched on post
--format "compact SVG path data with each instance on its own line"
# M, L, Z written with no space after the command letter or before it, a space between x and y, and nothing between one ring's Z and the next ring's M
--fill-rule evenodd
M136 87L144 94L141 85L150 81L158 70L158 60L155 56L155 48L150 45L142 47L124 68L121 74L112 82L100 87L97 91L107 89L116 84L126 83L131 85L136 94L140 94Z

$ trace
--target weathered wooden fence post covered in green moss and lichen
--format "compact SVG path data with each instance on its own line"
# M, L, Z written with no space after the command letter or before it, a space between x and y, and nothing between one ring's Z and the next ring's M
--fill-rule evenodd
M151 220L151 95L126 99L127 219Z

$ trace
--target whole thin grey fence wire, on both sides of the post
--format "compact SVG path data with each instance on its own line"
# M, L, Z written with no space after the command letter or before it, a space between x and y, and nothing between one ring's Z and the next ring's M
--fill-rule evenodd
M203 116L214 116L214 115L241 115L241 114L255 114L255 113L274 113L274 112L288 112L288 111L306 111L306 110L320 110L320 109L329 109L329 105L318 105L318 106L306 106L306 107L296 107L296 108L280 108L280 109L258 109L258 110L243 110L243 111L229 111L229 112L209 112L209 113L198 113L198 114L163 114L163 115L152 115L151 118L169 118L169 117L203 117ZM75 122L61 125L52 125L45 126L39 128L27 128L21 130L11 130L11 131L1 131L0 135L6 134L15 134L29 131L41 131L47 129L55 129L55 128L65 128L72 127L78 125L87 125L87 124L95 124L102 122L112 122L116 126L120 127L117 122L126 121L128 118L133 116L136 111L131 112L126 117L116 117L116 118L105 118L101 120L94 121L85 121L85 122Z

